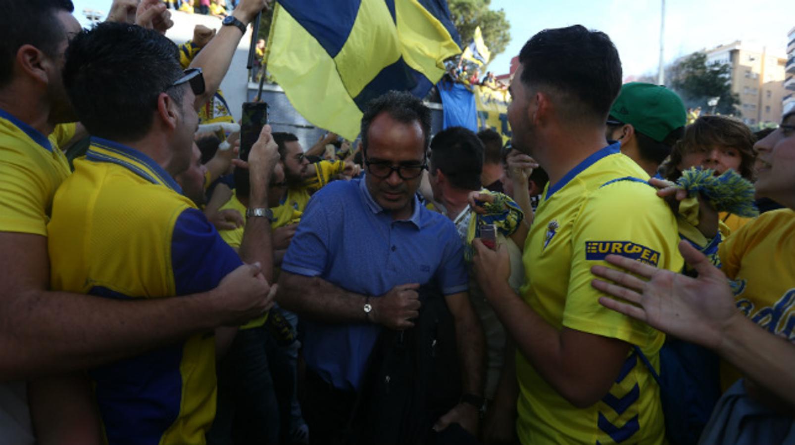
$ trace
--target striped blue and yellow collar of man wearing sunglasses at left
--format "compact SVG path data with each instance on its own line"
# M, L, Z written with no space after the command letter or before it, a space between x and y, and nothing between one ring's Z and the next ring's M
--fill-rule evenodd
M91 137L91 147L86 152L86 159L121 165L153 184L165 185L174 192L182 193L180 185L151 157L118 142Z

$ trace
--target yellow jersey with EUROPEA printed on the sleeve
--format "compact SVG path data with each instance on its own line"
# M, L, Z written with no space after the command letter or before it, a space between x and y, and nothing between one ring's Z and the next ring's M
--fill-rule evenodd
M591 287L591 266L607 264L609 253L681 269L676 219L654 188L644 184L648 179L614 144L548 184L525 242L521 294L556 330L568 327L637 345L658 369L665 335L604 308L598 301L603 294ZM576 408L560 396L519 352L516 371L522 443L665 441L660 389L634 352L607 396L588 408Z

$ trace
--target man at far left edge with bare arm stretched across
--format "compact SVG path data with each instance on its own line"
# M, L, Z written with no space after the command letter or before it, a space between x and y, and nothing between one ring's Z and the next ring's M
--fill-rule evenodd
M68 41L80 32L73 8L68 0L0 2L0 349L13 358L0 364L2 381L117 360L241 322L266 302L262 284L245 269L189 299L130 304L48 291L46 224L52 196L69 174L61 149L82 137L80 126L58 125L75 120L61 79ZM150 27L165 10L152 1L140 8L138 18L147 25L149 17ZM33 443L28 411L25 382L0 385L3 439Z

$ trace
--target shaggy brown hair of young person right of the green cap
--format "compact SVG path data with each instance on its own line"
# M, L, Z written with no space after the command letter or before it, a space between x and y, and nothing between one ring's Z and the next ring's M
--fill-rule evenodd
M677 166L686 153L722 145L739 152L738 173L747 180L754 180L755 142L754 133L739 119L718 115L701 116L684 129L684 137L673 146L671 157L661 167L661 174L667 180L677 180L682 176Z

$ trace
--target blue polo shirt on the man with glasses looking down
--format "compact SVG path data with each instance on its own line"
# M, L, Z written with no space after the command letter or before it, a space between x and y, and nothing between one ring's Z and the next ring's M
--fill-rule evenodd
M452 221L416 197L411 218L394 221L370 196L365 181L335 181L312 195L281 269L370 296L432 279L444 295L466 292L463 244ZM359 389L381 328L302 323L307 366L338 389Z

